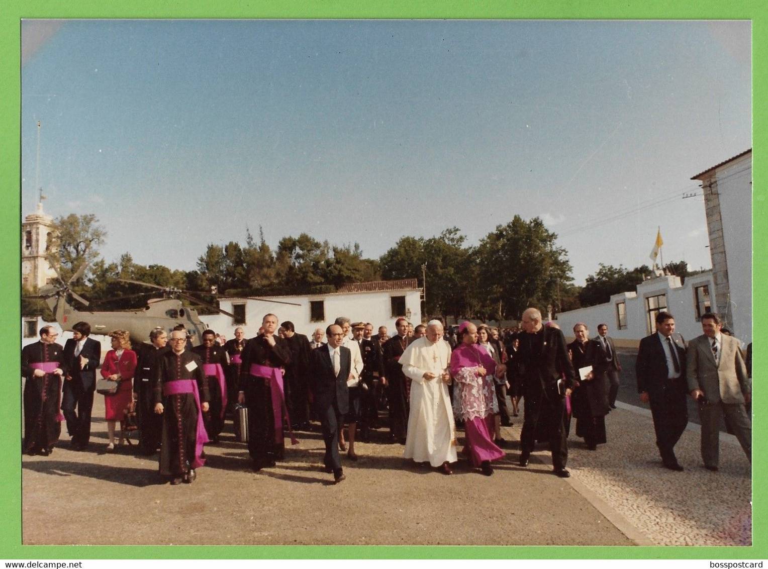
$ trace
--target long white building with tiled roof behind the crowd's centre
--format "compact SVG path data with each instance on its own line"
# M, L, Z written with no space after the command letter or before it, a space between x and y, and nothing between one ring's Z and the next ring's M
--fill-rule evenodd
M336 293L266 296L263 300L220 299L219 307L236 318L214 314L201 315L200 319L227 338L234 336L237 326L243 326L246 337L256 336L263 316L268 313L276 314L278 322L290 320L296 332L307 336L316 328L325 331L338 316L372 323L374 332L379 326L386 326L390 335L401 316L414 325L422 321L421 289L415 279L347 284Z

